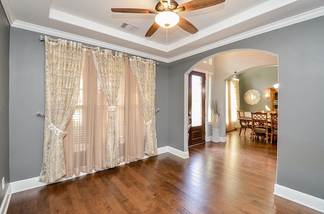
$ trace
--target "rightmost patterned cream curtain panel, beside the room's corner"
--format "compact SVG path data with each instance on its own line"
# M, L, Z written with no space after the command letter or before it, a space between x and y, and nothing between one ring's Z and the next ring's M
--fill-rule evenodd
M130 58L131 67L137 81L141 110L145 127L145 153L157 154L155 129L155 65L152 60L140 57Z

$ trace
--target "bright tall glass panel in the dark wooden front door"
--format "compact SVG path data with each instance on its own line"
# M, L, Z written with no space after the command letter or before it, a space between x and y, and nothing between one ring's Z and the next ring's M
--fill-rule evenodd
M192 126L201 126L201 99L202 86L201 77L192 75L191 79L191 120Z

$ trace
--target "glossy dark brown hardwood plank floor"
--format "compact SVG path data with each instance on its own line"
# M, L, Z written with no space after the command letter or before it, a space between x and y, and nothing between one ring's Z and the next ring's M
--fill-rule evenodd
M320 213L272 194L276 143L250 133L14 193L7 213Z

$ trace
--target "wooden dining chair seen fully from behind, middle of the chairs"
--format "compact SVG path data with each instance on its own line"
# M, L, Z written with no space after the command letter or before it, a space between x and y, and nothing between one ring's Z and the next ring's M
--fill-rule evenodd
M268 143L269 138L269 128L268 128L268 117L267 113L262 112L252 112L252 137L251 139L261 136L266 138L266 142Z

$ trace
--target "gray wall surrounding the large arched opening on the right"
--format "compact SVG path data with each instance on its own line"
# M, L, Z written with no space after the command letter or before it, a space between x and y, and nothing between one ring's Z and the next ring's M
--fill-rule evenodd
M280 96L277 184L324 199L324 17L233 42L169 66L169 144L184 147L184 74L197 62L225 50L252 48L278 55ZM222 74L215 74L215 78ZM233 75L233 74L232 74ZM230 77L231 75L228 75ZM224 112L224 80L214 94ZM213 89L214 90L214 89ZM300 125L303 124L303 125ZM225 123L220 126L225 136ZM190 154L189 154L190 155Z

